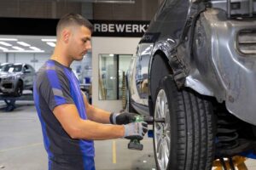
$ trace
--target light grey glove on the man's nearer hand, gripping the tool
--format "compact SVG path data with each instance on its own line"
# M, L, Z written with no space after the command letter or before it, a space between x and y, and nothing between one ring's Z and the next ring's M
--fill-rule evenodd
M131 122L125 126L125 139L142 140L145 133L148 132L148 123L146 122Z

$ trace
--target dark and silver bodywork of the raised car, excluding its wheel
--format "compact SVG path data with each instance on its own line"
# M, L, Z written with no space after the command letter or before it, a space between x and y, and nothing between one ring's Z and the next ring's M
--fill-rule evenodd
M185 86L215 97L219 103L225 102L232 114L256 125L256 106L253 105L256 95L252 93L256 84L253 54L256 40L248 39L256 35L256 21L255 18L230 19L224 4L227 2L212 1L212 8L207 8L209 3L185 0L162 4L138 45L133 67L133 74L136 73L133 82L137 83L130 83L131 91L137 92L131 97L134 104L148 106L146 98L154 95L148 73L154 55L163 53L178 88ZM247 6L241 6L242 13L246 14L244 8ZM178 14L178 20L172 17L172 10ZM230 14L236 13L233 10ZM142 72L145 70L148 73ZM148 91L142 89L145 82Z

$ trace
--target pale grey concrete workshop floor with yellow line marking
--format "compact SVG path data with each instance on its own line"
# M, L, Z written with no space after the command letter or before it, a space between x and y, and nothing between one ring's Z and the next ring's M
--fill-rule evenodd
M19 102L5 112L0 102L0 169L46 170L47 157L38 115L32 102ZM144 139L143 151L128 150L126 139L96 141L97 170L155 170L152 139ZM248 170L256 161L247 161ZM214 168L212 168L214 169Z

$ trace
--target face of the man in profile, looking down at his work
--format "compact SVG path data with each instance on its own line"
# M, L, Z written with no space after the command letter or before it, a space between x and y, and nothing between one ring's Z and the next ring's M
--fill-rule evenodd
M73 60L82 60L84 55L91 49L91 32L85 26L73 27L68 51Z

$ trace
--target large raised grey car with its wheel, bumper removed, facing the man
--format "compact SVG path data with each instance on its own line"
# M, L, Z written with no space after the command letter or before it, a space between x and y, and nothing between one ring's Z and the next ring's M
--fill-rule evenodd
M255 0L160 5L127 75L129 111L165 119L153 124L158 169L256 157L255 15Z

